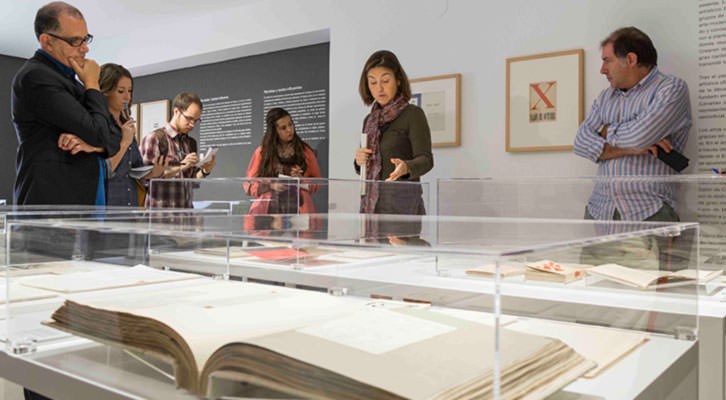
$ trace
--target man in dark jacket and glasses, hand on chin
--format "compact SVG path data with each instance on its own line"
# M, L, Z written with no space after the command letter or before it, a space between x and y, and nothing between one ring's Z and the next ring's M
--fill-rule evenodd
M93 36L80 11L62 2L38 10L35 35L40 50L12 84L15 204L93 205L101 171L96 151L115 154L121 141L99 91L100 68L85 58Z

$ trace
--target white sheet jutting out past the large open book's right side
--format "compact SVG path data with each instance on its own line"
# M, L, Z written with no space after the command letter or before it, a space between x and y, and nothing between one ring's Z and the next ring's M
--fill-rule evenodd
M597 363L597 368L585 374L586 378L596 377L648 340L648 335L640 332L535 319L518 320L507 326L507 329L561 340L583 357Z

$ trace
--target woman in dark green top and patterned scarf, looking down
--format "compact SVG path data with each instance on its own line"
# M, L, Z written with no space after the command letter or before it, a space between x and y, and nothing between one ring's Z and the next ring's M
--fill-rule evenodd
M434 166L431 131L423 110L409 104L411 85L395 54L380 50L368 58L359 92L373 106L363 122L367 146L356 150L356 171L365 165L368 180L418 182ZM423 215L421 193L416 184L369 184L361 212Z

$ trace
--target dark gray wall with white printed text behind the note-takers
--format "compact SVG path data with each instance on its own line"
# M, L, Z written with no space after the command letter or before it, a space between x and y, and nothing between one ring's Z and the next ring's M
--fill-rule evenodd
M323 43L135 77L134 103L162 99L171 102L180 92L196 93L203 100L225 96L229 100L251 99L251 125L242 124L244 126L238 127L250 129L251 136L237 138L236 141L230 140L227 146L220 147L213 174L215 177L240 177L245 175L252 154L262 141L266 112L263 104L265 96L270 96L271 91L278 89L283 89L280 93L324 90L324 115L314 119L318 122L318 127L323 124L317 132L304 132L301 129L301 124L305 122L303 111L290 110L290 113L298 127L298 134L316 151L321 175L327 177L329 52L330 44ZM293 89L289 90L291 88ZM205 101L205 106L206 104ZM202 115L202 118L201 128L204 128L205 115ZM197 125L190 134L199 142L200 124ZM200 147L200 152L206 150L201 143Z

